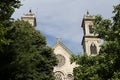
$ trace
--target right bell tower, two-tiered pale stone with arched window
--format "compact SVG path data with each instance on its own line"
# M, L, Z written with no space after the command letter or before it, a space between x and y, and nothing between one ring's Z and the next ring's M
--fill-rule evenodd
M93 33L94 16L91 16L89 12L83 17L82 25L84 36L82 39L82 46L84 54L88 56L94 56L99 53L100 39Z

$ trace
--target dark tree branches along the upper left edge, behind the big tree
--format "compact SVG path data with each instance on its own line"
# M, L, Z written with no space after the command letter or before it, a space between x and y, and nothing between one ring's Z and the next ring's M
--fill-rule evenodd
M16 8L21 6L19 0L0 1L0 51L3 45L8 45L10 40L6 39L7 31L11 25L11 15Z

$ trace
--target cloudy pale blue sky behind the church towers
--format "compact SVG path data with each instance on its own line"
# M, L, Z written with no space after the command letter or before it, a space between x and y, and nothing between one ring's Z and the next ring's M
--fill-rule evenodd
M36 15L37 26L47 40L48 46L53 46L57 38L73 54L83 53L81 41L83 29L81 27L83 16L87 11L91 15L102 15L111 19L113 6L120 0L21 0L23 6L15 10L13 18L21 16L31 9Z

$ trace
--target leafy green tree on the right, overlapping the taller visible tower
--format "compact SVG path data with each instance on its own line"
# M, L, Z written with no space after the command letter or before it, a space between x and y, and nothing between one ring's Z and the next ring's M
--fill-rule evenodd
M74 69L75 80L120 79L120 4L114 6L112 21L96 16L94 33L104 43L97 56L76 57L80 65Z

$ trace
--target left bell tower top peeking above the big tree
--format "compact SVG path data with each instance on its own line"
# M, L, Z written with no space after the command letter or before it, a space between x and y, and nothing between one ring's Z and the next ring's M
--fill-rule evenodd
M29 10L27 14L24 14L21 17L21 19L24 21L28 21L34 27L36 26L36 17L35 17L35 14L33 14L31 10Z

